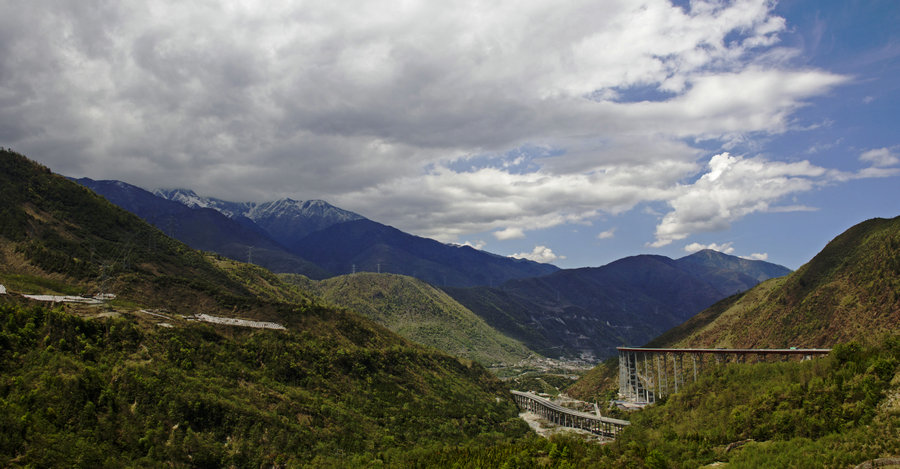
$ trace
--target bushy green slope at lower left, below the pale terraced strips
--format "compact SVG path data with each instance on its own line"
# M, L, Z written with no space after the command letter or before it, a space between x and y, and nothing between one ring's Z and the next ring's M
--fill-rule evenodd
M0 465L358 466L524 434L483 368L303 314L224 335L0 305Z

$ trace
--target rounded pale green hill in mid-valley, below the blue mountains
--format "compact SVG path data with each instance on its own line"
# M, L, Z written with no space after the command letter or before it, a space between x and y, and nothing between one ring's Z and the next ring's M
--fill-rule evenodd
M312 286L325 301L358 312L407 339L485 366L511 365L532 355L446 293L412 277L357 273L319 282L290 275L282 278Z

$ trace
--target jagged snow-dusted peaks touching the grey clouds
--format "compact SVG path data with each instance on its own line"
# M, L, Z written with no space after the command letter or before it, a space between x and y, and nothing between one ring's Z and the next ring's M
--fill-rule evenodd
M324 200L297 201L281 199L272 202L228 202L200 197L187 189L156 190L166 199L188 207L211 208L229 218L252 222L284 246L296 246L306 235L329 226L365 219L362 215L335 207ZM246 223L246 221L244 221Z

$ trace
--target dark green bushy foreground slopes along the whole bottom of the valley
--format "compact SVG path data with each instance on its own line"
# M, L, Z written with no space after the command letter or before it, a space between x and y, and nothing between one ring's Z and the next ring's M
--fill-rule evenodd
M483 368L402 343L147 330L11 304L0 327L4 466L846 467L900 454L896 334L714 368L597 445L529 434Z

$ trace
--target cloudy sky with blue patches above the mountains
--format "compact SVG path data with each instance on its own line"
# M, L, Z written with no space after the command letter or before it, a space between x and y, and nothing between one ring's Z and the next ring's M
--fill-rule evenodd
M900 1L0 0L0 146L600 266L900 215Z

